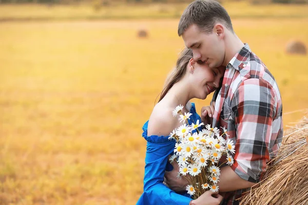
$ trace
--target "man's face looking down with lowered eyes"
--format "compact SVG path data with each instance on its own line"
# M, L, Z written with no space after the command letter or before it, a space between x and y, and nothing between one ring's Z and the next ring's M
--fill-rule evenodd
M214 30L213 30L214 31ZM225 47L220 34L207 34L192 24L182 35L185 46L192 50L194 60L205 62L210 68L218 68L223 64Z

